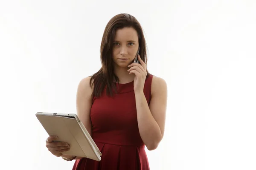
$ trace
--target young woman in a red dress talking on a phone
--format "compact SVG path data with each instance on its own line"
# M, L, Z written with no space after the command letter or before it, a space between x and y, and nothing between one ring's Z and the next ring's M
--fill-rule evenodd
M139 63L134 63L137 51ZM118 14L107 24L101 42L102 68L79 82L77 115L102 153L101 161L64 155L65 142L46 141L48 150L73 170L149 170L145 146L157 148L163 139L167 85L148 73L143 29L130 14Z

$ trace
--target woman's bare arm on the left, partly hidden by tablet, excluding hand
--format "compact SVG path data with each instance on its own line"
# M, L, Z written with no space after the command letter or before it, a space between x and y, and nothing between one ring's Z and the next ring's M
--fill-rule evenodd
M92 124L90 121L90 109L92 106L93 87L90 87L90 77L86 77L79 82L76 93L76 112L77 116L84 124L84 127L92 136ZM69 155L62 155L64 158L70 158ZM82 157L76 157L82 159Z

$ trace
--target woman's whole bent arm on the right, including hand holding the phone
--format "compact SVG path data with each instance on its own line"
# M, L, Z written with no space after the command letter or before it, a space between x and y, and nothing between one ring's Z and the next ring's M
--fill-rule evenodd
M144 85L147 76L145 62L138 55L140 64L128 65L129 74L135 74L134 93L137 109L137 120L140 137L148 150L157 148L163 139L166 106L167 106L167 85L164 79L153 77L151 83L151 101L148 102L144 95Z

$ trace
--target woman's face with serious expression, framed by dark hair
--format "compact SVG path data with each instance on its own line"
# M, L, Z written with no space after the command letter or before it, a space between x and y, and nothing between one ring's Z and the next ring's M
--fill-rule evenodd
M138 48L139 38L134 28L118 29L113 42L113 61L115 66L127 68L133 62Z

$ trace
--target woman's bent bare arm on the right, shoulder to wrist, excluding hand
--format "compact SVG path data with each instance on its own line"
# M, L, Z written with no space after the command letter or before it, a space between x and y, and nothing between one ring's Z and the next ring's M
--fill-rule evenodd
M165 128L167 106L165 80L160 77L153 77L149 105L143 91L135 92L135 99L141 139L148 150L154 150L163 139Z

